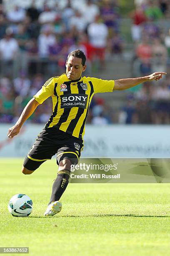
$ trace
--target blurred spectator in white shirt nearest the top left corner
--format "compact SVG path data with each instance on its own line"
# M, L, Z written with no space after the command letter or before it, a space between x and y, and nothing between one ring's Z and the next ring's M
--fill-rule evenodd
M25 19L25 10L15 5L14 9L7 13L7 19L13 23L21 22Z

